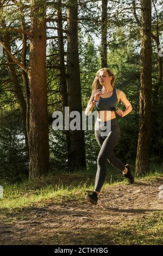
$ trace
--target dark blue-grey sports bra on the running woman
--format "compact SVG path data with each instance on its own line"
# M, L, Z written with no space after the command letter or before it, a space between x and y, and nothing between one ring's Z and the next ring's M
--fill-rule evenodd
M104 111L104 110L116 111L117 106L118 106L118 99L117 99L117 93L115 88L113 88L111 97L106 97L106 98L99 97L99 100L96 103L97 111Z

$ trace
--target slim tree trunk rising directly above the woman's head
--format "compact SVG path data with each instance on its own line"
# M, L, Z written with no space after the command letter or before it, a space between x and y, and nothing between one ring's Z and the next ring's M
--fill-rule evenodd
M101 62L102 68L106 68L108 66L107 63L107 7L108 7L108 0L102 0L102 42L101 42Z

